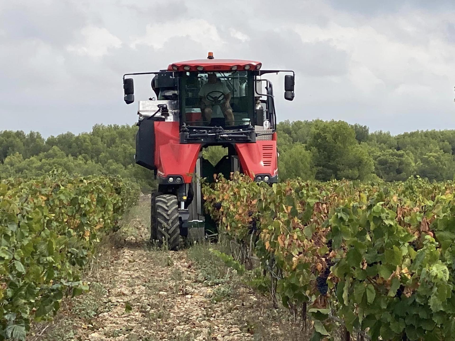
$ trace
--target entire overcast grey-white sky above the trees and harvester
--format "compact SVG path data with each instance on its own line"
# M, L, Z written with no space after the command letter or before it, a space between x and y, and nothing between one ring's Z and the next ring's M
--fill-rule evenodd
M126 105L124 73L207 51L295 70L278 120L455 129L453 0L0 0L0 130L133 124L152 89L136 78Z

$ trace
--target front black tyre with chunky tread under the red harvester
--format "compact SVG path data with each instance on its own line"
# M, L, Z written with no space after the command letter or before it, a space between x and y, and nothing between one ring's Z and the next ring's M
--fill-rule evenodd
M169 194L157 196L155 206L157 208L158 245L161 246L164 241L169 250L178 250L180 247L180 221L177 196Z

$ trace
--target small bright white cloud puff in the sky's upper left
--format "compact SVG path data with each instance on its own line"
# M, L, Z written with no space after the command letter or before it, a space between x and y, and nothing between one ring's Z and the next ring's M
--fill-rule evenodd
M119 48L121 40L112 35L106 28L86 26L81 30L84 42L77 45L68 45L66 50L76 52L78 55L88 55L100 58L108 53L111 48Z

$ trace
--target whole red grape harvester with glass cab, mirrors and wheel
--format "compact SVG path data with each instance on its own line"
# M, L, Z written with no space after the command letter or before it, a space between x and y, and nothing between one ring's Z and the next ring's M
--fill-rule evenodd
M210 182L213 174L240 171L255 181L278 181L273 85L264 77L278 72L292 73L285 75L284 98L293 100L293 71L262 70L262 64L253 60L214 59L211 52L207 59L123 76L124 100L131 104L133 79L125 76L154 75L155 95L139 101L135 154L136 163L152 170L158 180L152 195L151 239L164 239L170 249L177 248L172 235L177 232L169 230L171 222L162 226L162 219L157 218L158 202L170 200L176 205L181 235L188 233L194 221L207 228L201 177ZM202 157L202 150L212 145L227 148L217 165Z

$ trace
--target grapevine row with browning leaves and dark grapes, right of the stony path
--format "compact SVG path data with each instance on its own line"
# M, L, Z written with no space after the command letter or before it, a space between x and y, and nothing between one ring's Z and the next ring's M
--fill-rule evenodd
M254 274L272 274L273 296L307 306L314 340L333 338L329 317L373 340L453 338L454 192L418 177L268 186L238 174L203 188L221 233L249 247Z

